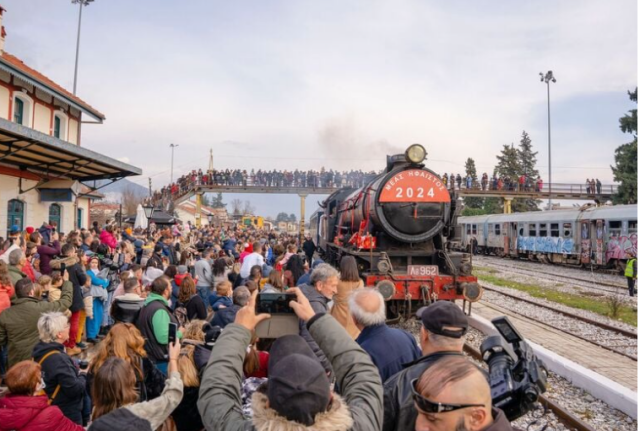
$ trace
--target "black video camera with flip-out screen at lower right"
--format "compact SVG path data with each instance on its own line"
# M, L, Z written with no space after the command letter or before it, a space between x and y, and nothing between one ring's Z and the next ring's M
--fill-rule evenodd
M511 422L532 410L547 390L547 369L506 316L491 323L501 336L488 337L480 351L489 365L493 406Z

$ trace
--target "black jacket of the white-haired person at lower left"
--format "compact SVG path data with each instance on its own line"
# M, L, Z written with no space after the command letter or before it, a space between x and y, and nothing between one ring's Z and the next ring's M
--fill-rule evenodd
M64 346L60 343L40 341L33 348L33 359L40 362L51 351L57 353L49 355L41 364L42 378L45 384L44 391L51 398L56 387L60 385L60 390L52 405L58 406L66 417L82 425L82 402L86 391L86 377L78 372L69 355L64 352Z

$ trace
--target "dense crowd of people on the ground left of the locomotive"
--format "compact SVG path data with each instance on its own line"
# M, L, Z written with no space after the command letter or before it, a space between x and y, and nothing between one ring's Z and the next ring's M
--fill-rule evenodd
M457 306L418 310L417 342L309 237L107 222L0 245L0 430L512 429ZM256 336L259 292L291 295L297 334Z

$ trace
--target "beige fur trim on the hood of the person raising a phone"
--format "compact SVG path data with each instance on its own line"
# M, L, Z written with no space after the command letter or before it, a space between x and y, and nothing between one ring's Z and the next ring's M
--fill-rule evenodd
M353 426L349 406L335 393L329 411L318 413L315 423L311 426L280 416L275 410L267 407L267 396L263 393L254 392L251 406L256 431L347 431Z

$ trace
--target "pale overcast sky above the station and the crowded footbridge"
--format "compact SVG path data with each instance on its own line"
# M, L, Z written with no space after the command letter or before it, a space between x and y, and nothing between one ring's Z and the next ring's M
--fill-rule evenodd
M6 50L71 89L78 6L0 4ZM107 117L82 145L141 167L145 186L169 181L172 142L175 176L210 148L217 168L380 169L414 142L438 173L467 157L491 173L523 130L546 181L549 69L554 182L610 183L631 140L633 0L96 0L81 37L78 95Z

